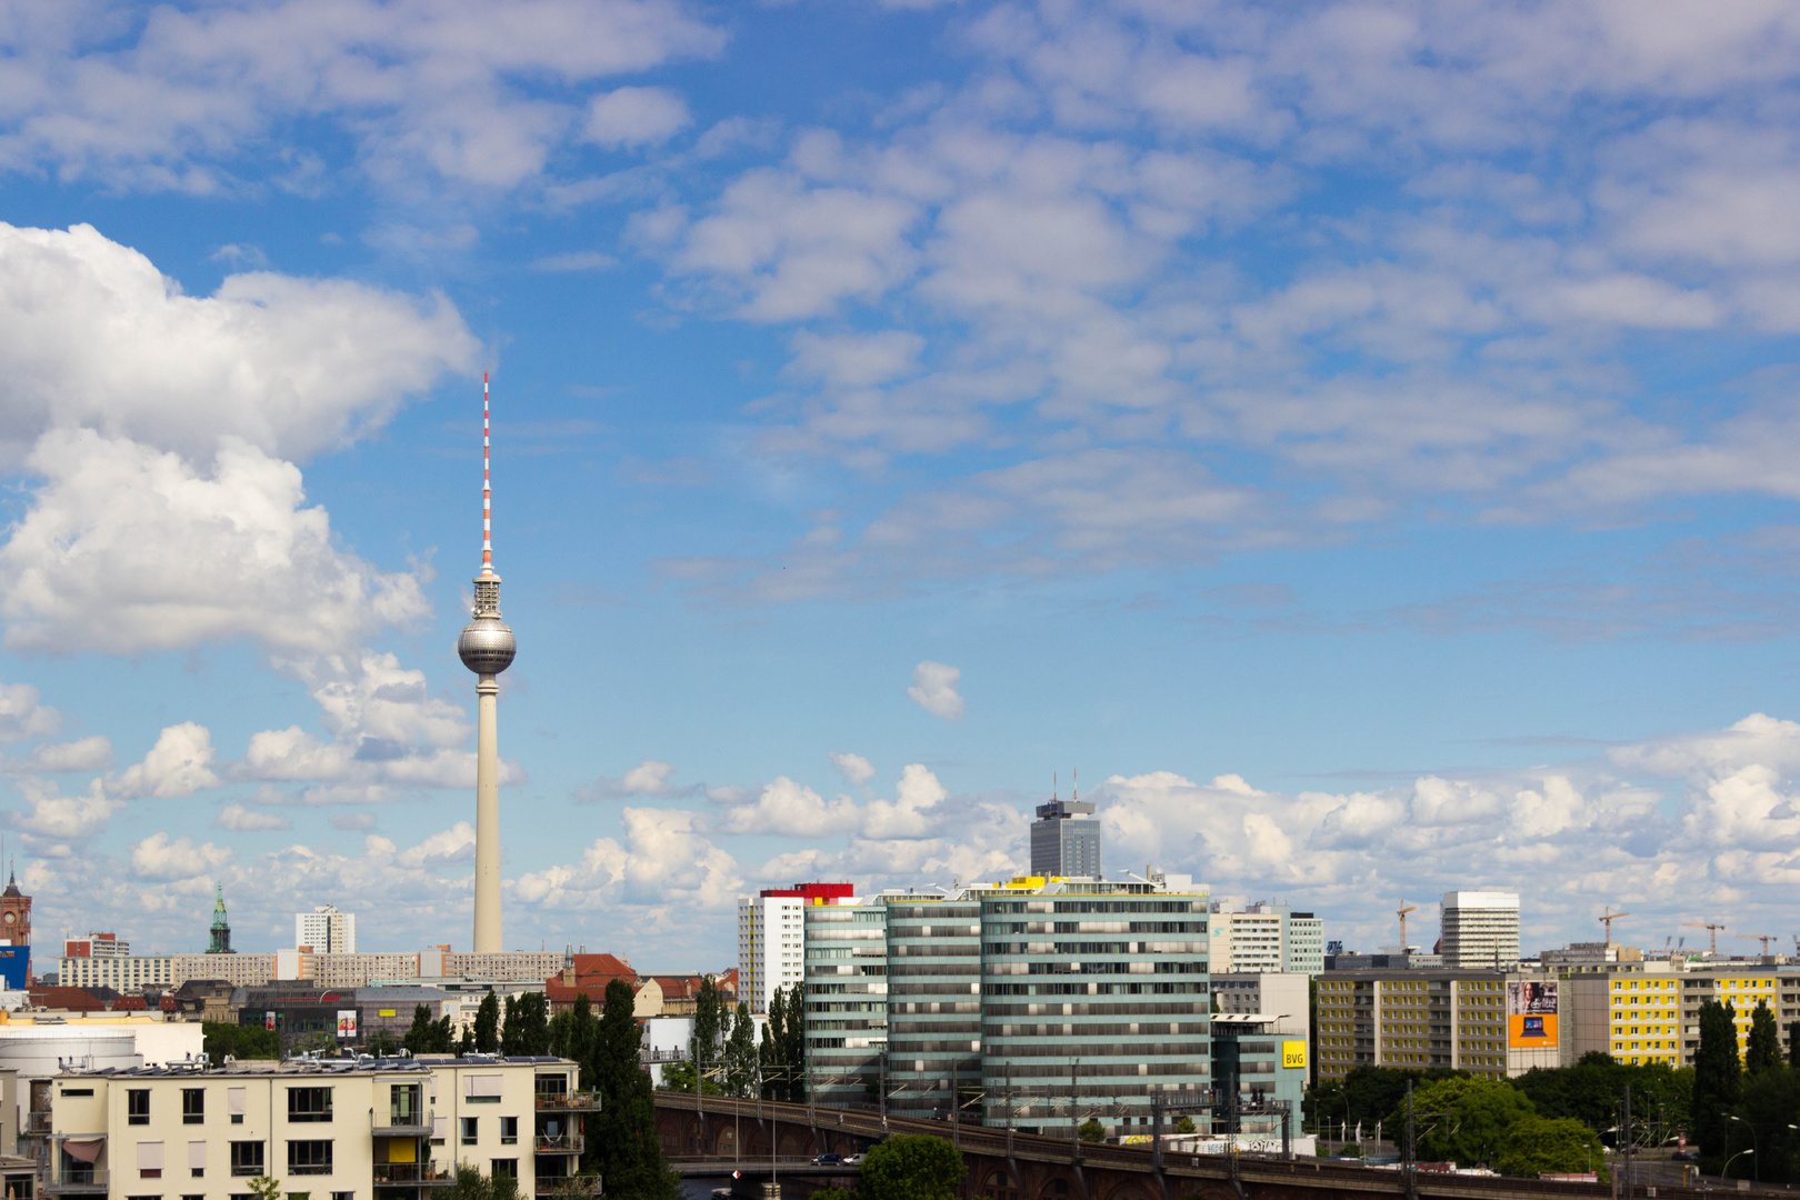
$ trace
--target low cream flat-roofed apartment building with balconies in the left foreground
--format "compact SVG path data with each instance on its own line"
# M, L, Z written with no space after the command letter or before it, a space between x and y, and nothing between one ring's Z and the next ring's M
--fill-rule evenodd
M457 1162L522 1196L571 1186L594 1099L565 1060L288 1060L70 1070L50 1083L52 1196L421 1200Z

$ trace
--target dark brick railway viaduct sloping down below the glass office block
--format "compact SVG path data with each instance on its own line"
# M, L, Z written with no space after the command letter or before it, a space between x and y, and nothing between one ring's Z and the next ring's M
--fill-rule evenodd
M1325 1200L1327 1196L1395 1196L1408 1200L1512 1200L1516 1196L1609 1196L1602 1184L1433 1175L1420 1171L1408 1186L1400 1171L1343 1166L1321 1159L1285 1160L1260 1155L1175 1155L1157 1162L1148 1148L1084 1144L1060 1137L1008 1133L949 1121L887 1117L873 1112L812 1108L772 1101L657 1092L657 1133L662 1151L688 1175L729 1175L761 1182L770 1150L785 1196L808 1196L826 1186L855 1186L855 1171L808 1168L821 1153L862 1153L886 1133L923 1133L954 1141L968 1173L959 1200ZM776 1139L770 1148L770 1137ZM1633 1189L1645 1196L1645 1187ZM749 1193L749 1187L745 1187ZM1658 1200L1701 1200L1705 1193L1658 1187Z

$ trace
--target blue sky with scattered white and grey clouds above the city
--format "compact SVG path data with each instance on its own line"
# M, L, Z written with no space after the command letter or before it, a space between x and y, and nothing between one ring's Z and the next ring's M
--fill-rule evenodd
M0 0L0 831L88 930L1109 869L1800 932L1800 9Z

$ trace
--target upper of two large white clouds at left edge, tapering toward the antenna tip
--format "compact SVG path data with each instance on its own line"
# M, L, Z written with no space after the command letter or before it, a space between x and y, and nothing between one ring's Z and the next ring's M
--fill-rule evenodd
M221 439L306 459L380 428L473 358L443 297L270 272L189 297L90 225L0 225L0 450L13 457L49 430L88 426L194 461Z

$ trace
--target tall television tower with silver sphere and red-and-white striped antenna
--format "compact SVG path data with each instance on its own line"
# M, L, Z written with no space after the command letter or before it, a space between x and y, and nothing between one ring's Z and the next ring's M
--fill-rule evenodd
M500 671L517 642L500 621L500 576L493 574L493 480L488 473L488 376L481 376L481 574L475 612L457 639L475 673L475 954L500 950Z

